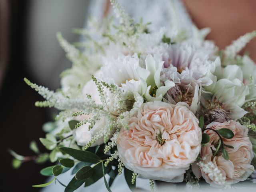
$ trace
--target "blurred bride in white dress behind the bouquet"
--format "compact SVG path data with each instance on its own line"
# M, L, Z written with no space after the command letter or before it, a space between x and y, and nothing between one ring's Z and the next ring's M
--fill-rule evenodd
M227 16L226 5L230 1L202 1L202 0L184 0L183 2L180 0L118 0L120 5L125 9L125 11L135 19L135 21L140 20L143 17L143 22L151 22L149 25L149 30L154 32L158 31L162 26L175 26L178 29L187 30L190 36L193 35L193 26L194 23L192 19L194 19L195 23L198 24L199 28L205 27L207 24L212 25L215 32L212 32L209 36L211 39L216 40L218 46L220 48L224 48L226 45L230 44L231 40L238 38L240 35L245 32L252 31L256 28L256 25L252 25L253 23L249 22L250 18L255 18L250 14L254 14L254 12L248 12L248 1L243 1L243 6L238 6L238 1L232 1L232 4L228 4L231 8L234 6L239 7L240 13L244 13L247 11L247 14L234 14L234 10L230 11L230 23L227 24L226 18L221 20L223 16ZM255 1L250 1L253 4L256 4ZM239 1L241 3L241 1ZM223 5L223 7L222 7ZM206 6L208 8L206 8ZM198 12L200 10L200 12ZM110 6L110 2L108 0L93 0L90 4L88 15L97 18L98 20L102 20L109 14L112 14L113 10ZM188 14L189 13L189 14ZM248 17L248 18L246 18ZM216 20L215 20L216 19ZM246 24L240 23L243 19L247 20ZM239 22L239 23L238 23ZM254 28L252 28L254 27ZM228 33L230 30L235 30L232 33ZM223 31L223 33L221 33ZM226 35L226 36L225 36ZM255 44L255 43L254 43ZM249 44L250 50L256 50L256 46L252 46L253 42ZM256 58L256 54L252 55L252 58ZM68 183L72 178L71 173L67 172L66 174L62 174L58 177L58 179L62 183ZM88 186L86 189L84 187L79 188L77 191L107 191L104 184L103 179L99 180L95 184ZM242 184L241 184L242 185ZM137 179L136 187L138 190L136 191L144 191L150 190L150 186L148 185L148 180ZM47 188L44 188L42 192L55 192L62 191L64 188L60 184L50 185ZM172 183L157 183L156 191L167 191L172 189L178 189L176 184ZM184 189L183 189L184 190ZM204 186L200 188L200 191L204 190ZM209 190L209 189L207 189ZM214 191L217 189L214 188ZM248 190L248 189L247 189ZM129 191L129 188L125 182L124 175L118 176L113 183L112 191L120 192L120 191Z

